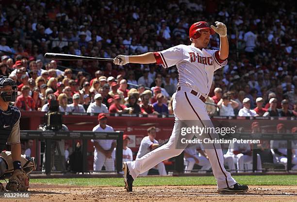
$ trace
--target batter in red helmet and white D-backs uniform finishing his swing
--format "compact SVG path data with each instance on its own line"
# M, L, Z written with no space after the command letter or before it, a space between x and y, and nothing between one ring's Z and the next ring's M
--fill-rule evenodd
M125 187L132 191L132 183L136 177L160 162L179 155L183 149L178 149L181 135L181 120L195 120L199 127L213 127L205 109L214 71L227 64L229 44L227 28L222 22L215 22L216 27L210 27L207 22L194 23L189 30L191 45L178 45L159 52L148 52L141 55L118 55L114 59L116 65L128 63L149 64L156 63L164 68L177 66L179 85L173 99L175 124L169 141L135 161L123 164ZM220 35L220 49L207 50L210 35ZM218 139L217 134L206 133L209 139ZM191 137L190 137L191 138ZM220 144L204 146L205 152L212 165L214 177L217 181L218 192L240 192L248 189L247 185L237 184L230 172L224 168L223 152Z

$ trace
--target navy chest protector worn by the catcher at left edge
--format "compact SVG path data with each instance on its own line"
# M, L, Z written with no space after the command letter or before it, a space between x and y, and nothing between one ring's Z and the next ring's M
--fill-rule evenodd
M0 110L0 152L6 145L7 139L20 118L19 110L14 106L8 106L8 110Z

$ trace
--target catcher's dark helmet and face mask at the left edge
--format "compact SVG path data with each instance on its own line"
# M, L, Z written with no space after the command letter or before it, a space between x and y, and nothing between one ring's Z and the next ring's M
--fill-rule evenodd
M12 89L4 90L3 88L6 86L11 86ZM0 76L0 97L3 101L16 101L16 95L17 95L17 85L14 80L11 78L7 78L5 76Z

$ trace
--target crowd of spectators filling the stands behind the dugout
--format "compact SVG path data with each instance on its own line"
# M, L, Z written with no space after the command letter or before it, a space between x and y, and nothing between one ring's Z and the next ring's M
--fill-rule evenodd
M292 1L293 3L293 1ZM55 61L46 52L114 58L190 44L197 20L227 25L228 65L214 73L207 111L221 116L297 116L296 11L290 3L217 0L3 1L0 75L18 85L16 106L61 112L173 114L175 67ZM266 12L269 11L269 12ZM211 35L211 49L219 37Z

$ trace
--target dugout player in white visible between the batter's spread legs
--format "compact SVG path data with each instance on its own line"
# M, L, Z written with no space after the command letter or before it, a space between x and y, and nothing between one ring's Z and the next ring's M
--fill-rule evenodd
M199 154L197 154L197 151ZM201 144L188 144L188 146L183 151L184 161L185 161L185 173L191 172L194 165L197 164L202 166L200 173L206 172L211 168L211 164L208 160L206 153L202 150Z

